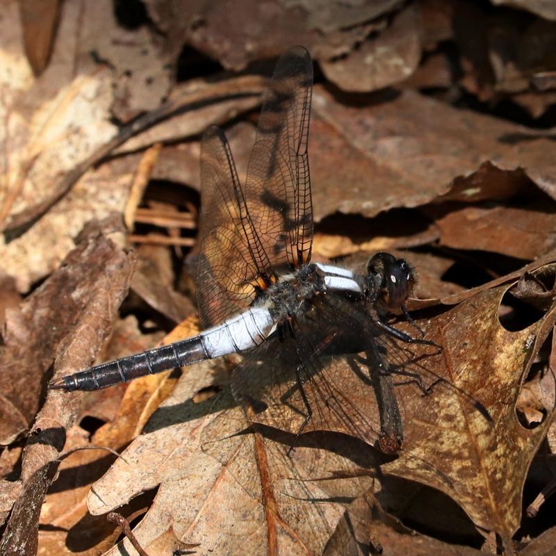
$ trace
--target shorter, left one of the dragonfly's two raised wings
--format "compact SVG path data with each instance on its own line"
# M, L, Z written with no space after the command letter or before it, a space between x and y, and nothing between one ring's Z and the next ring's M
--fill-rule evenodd
M199 243L197 304L206 328L249 306L257 279L270 268L247 213L229 144L215 126L202 138Z

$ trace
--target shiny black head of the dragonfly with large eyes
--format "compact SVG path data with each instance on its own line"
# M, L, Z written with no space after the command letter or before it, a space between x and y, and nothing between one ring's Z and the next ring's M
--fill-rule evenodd
M390 253L375 254L368 262L367 272L375 286L375 301L381 309L399 313L415 284L415 275L405 259Z

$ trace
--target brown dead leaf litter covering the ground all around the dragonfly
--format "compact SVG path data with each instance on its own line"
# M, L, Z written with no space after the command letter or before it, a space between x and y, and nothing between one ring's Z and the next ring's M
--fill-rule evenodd
M245 0L236 24L223 25L225 4L176 17L147 1L131 26L107 2L95 13L64 4L39 38L54 41L50 57L33 53L29 23L6 6L3 550L134 553L104 517L117 509L148 554L550 553L553 500L539 498L534 518L522 511L549 492L535 470L550 468L554 445L555 124L550 88L534 85L552 70L550 10L423 0L419 17L417 3L275 2L271 24ZM477 28L489 40L473 42ZM195 334L198 136L229 126L245 175L264 81L249 75L255 66L221 70L280 54L285 36L311 47L322 69L309 150L315 254L357 265L369 251L401 250L419 277L416 323L443 347L411 346L414 374L392 377L404 423L395 456L372 447L379 411L357 399L361 356L326 373L363 408L367 442L313 430L290 453L291 434L247 428L227 387L231 358L181 378L45 395L53 372L144 350L183 318L164 341ZM120 218L103 219L126 212L142 152L157 143L128 236L141 245L131 278L130 256L106 247ZM58 466L60 453L95 445L122 457L82 450Z

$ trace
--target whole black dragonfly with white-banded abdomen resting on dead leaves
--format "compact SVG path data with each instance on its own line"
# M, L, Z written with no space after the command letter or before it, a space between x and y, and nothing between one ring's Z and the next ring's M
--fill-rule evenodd
M340 430L370 442L374 434L383 452L400 448L391 340L435 344L391 324L389 317L401 313L413 323L406 303L415 275L404 259L379 252L363 272L311 262L312 87L309 52L289 49L263 99L245 186L222 130L211 126L202 136L196 277L202 332L58 378L51 389L97 390L240 353L231 389L252 423L296 437ZM329 357L346 353L366 356L356 388L359 400L375 396L379 431L370 430L366 408L325 368Z

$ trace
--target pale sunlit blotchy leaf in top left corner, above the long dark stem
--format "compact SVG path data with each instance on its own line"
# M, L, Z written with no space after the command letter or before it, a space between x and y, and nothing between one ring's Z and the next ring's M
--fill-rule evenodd
M115 126L108 122L111 72L79 58L80 48L87 47L79 35L80 17L79 3L64 5L51 63L35 79L19 40L17 2L3 7L0 142L7 158L0 181L3 224L10 224L8 215L56 195L60 177L115 135Z

